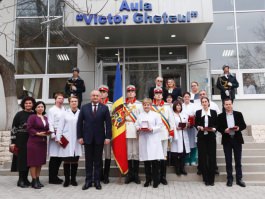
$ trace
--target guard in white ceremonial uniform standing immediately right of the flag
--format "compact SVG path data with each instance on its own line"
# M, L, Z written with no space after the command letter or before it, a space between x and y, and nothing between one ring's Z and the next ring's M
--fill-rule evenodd
M136 88L134 85L128 85L127 98L124 103L125 124L126 124L126 140L127 140L127 156L129 171L125 178L125 184L135 182L140 184L139 178L139 142L135 128L135 122L142 110L142 104L136 100Z

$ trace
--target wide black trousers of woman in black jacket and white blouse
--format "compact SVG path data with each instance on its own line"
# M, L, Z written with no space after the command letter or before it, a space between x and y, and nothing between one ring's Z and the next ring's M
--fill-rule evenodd
M198 152L203 181L214 183L216 166L216 138L211 133L198 137Z

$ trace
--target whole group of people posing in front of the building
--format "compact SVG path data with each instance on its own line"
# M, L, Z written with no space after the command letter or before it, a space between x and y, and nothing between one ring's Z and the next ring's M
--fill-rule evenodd
M220 132L226 159L227 186L233 184L232 150L236 163L236 183L245 186L242 181L241 152L244 141L241 131L246 128L246 124L242 114L233 110L232 90L238 87L238 83L229 73L229 66L224 67L224 72L226 79L220 79L222 81L219 85L226 96L223 98L222 94L222 113L209 100L205 90L199 91L199 84L195 81L191 83L191 92L182 94L173 79L167 80L164 88L163 78L157 77L156 86L150 88L149 98L144 98L142 102L136 99L134 85L126 87L123 112L129 169L125 184L141 183L139 164L144 162L144 187L152 183L154 188L160 183L167 185L166 170L172 164L177 175L187 175L185 165L198 164L205 185L213 186L217 169L216 133ZM79 77L75 79L81 80ZM224 84L224 81L227 82ZM84 86L84 83L80 85ZM79 86L71 82L67 82L67 86L73 92L79 90ZM221 89L221 86L226 87ZM14 118L11 144L11 147L19 148L18 154L14 156L16 160L13 161L17 163L19 171L19 187L43 187L39 176L41 166L46 163L47 138L49 183L63 183L58 177L63 161L63 186L77 186L76 173L82 145L86 165L86 179L82 189L89 189L94 184L100 190L101 181L109 183L113 103L109 101L108 92L107 85L91 91L91 102L83 105L80 110L81 101L76 94L70 95L70 108L65 109L63 93L56 93L55 105L49 109L47 117L43 102L36 103L31 97L22 100L23 110ZM27 179L28 169L31 183Z

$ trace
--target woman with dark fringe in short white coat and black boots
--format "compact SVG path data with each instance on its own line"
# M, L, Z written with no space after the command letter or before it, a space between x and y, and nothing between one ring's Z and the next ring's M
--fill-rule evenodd
M185 170L185 156L190 153L189 137L187 132L188 115L182 112L182 104L179 101L173 104L175 133L171 143L171 153L175 158L177 175L187 175Z

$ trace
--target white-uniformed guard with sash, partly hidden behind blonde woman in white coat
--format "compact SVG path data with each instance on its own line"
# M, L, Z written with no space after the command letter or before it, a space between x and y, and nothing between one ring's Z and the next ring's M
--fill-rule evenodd
M167 185L167 148L168 139L170 136L174 136L174 118L170 104L165 103L163 100L163 90L161 88L154 89L152 111L155 111L160 115L160 118L164 124L160 129L160 137L164 152L164 158L160 160L160 182L163 185Z

